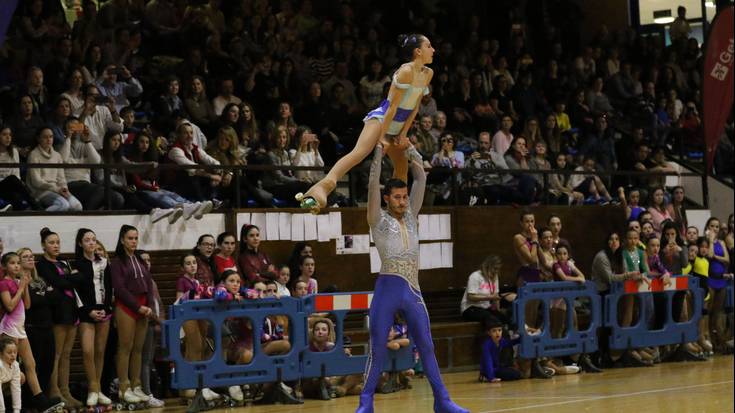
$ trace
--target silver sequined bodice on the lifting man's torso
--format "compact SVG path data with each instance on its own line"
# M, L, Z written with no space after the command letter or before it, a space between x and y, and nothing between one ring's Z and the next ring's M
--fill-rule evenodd
M380 220L371 230L382 263L380 272L399 275L420 290L419 226L410 208L403 215L403 223L381 210Z

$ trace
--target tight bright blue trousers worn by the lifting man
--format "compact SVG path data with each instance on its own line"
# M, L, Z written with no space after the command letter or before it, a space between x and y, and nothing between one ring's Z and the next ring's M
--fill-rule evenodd
M370 355L365 366L365 384L360 402L372 403L375 387L383 371L388 353L388 332L393 325L393 316L401 310L406 318L408 333L418 347L424 373L429 379L435 400L448 399L446 387L439 373L431 339L429 313L426 311L421 292L414 290L405 279L381 274L375 283L373 301L370 304Z

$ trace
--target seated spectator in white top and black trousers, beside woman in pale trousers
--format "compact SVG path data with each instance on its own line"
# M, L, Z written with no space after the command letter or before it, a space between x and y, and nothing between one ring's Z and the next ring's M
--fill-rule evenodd
M65 140L61 146L61 159L67 165L102 163L100 154L92 145L88 129L76 118L70 118L65 125ZM87 168L66 169L66 180L69 190L84 205L87 211L98 210L105 206L105 187L92 183L91 171ZM120 193L111 191L112 209L121 209L125 203Z

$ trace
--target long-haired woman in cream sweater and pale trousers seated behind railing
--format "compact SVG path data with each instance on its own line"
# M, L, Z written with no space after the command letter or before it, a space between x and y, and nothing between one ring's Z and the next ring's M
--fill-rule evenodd
M53 148L54 133L51 129L40 129L36 139L38 144L28 154L28 163L64 163L61 154ZM63 169L29 169L26 184L31 190L31 195L46 208L46 211L82 210L82 203L69 192Z

